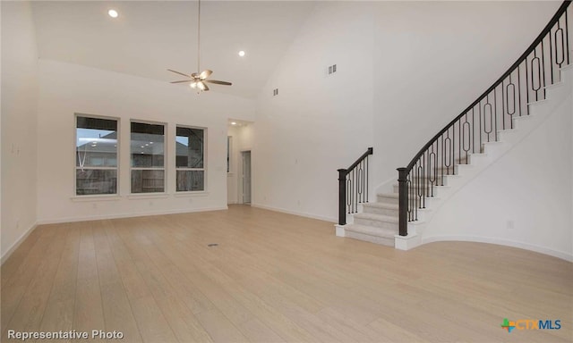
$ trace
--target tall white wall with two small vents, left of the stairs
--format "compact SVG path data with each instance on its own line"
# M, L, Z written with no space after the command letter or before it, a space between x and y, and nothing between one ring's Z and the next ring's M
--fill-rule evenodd
M252 204L336 221L338 168L372 146L372 16L320 3L262 89ZM338 71L327 75L328 66ZM278 96L272 89L278 88Z

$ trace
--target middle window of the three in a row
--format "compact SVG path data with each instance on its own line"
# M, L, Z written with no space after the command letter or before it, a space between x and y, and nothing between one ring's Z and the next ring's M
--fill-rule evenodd
M132 193L165 192L165 126L132 121Z

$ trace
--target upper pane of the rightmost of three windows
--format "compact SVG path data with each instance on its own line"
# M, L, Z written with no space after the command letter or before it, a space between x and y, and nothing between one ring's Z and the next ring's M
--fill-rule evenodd
M203 168L204 130L177 127L176 135L176 167Z

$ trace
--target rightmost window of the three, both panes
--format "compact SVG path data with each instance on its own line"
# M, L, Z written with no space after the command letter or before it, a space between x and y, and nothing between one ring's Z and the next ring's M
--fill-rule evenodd
M205 190L205 130L177 126L175 168L177 192Z

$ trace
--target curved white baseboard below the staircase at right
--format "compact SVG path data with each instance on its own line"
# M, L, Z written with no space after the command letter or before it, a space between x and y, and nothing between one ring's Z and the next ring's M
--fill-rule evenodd
M553 257L557 257L560 258L561 260L573 262L573 254L570 252L567 253L563 251L553 250L548 247L539 247L533 244L517 242L514 240L503 239L503 238L460 236L460 235L433 236L429 238L423 238L422 244L427 244L432 242L443 242L443 241L477 242L477 243L497 244L499 246L506 246L506 247L518 247L521 249L535 251L536 253L540 253L543 255L550 255Z

